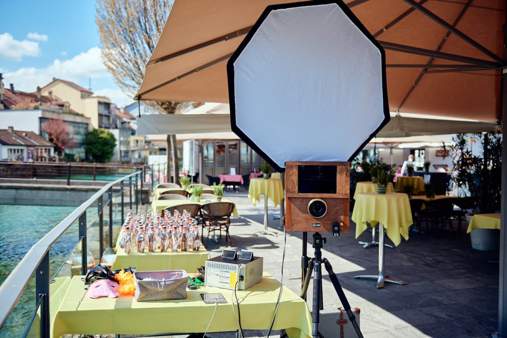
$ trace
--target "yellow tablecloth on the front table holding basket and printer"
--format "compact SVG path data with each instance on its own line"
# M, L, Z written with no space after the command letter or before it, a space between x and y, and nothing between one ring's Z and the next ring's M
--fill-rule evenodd
M231 307L232 290L214 287L187 289L187 299L136 301L133 296L89 298L83 276L74 276L58 309L51 335L62 334L156 334L204 332L215 308L204 304L200 293L222 293L227 303L219 304L208 332L235 331L238 324ZM241 326L267 330L271 325L280 282L268 274L248 288L238 290ZM237 311L236 311L237 316ZM274 330L286 329L290 337L311 337L311 314L306 302L283 288Z

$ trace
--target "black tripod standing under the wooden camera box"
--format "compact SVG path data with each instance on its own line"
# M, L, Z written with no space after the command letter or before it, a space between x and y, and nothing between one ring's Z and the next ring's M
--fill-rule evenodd
M303 255L306 255L306 233L303 235ZM336 274L333 272L333 267L331 266L331 263L325 259L322 258L322 252L320 249L325 244L325 238L322 238L320 233L315 232L313 234L313 245L312 247L315 249L315 257L310 259L305 259L305 256L303 256L303 268L305 267L305 263L307 263L307 271L306 274L304 274L303 279L303 286L301 289L301 298L306 298L306 293L308 291L308 285L310 284L310 278L312 275L313 270L313 311L312 311L312 336L313 338L319 338L322 337L322 335L318 332L318 323L319 323L319 312L322 306L322 274L321 274L321 268L320 264L324 263L325 269L328 271L329 278L331 279L331 282L333 283L333 286L335 287L336 293L338 294L338 297L340 298L340 301L343 305L343 309L347 313L350 322L354 326L355 332L357 333L357 336L359 338L363 338L363 333L361 333L361 330L359 329L359 325L357 324L355 320L355 316L350 310L350 304L347 300L347 297L345 297L345 293L343 293L342 286L340 285L340 282L338 281L338 278L336 277ZM327 337L325 337L327 338Z

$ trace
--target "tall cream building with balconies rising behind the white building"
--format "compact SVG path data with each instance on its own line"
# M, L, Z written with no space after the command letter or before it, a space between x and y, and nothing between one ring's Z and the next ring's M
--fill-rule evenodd
M73 82L53 78L41 88L42 95L66 101L78 113L90 118L94 128L112 128L111 100L105 96L93 96L93 92Z

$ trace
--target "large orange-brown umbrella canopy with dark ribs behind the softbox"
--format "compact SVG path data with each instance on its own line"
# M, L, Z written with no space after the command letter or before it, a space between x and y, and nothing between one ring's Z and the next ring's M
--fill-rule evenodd
M230 55L267 5L288 2L176 0L137 97L227 103ZM386 50L391 111L497 121L504 2L346 3Z

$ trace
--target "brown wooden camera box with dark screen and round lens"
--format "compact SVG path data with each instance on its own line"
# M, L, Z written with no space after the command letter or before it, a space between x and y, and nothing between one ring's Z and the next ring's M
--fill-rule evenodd
M350 162L285 162L286 230L349 232L349 181Z

